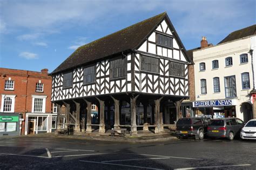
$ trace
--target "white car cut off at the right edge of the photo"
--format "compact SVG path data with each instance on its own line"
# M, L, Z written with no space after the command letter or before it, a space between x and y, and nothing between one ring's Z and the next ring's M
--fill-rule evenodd
M240 137L242 139L256 139L256 119L248 121L241 129Z

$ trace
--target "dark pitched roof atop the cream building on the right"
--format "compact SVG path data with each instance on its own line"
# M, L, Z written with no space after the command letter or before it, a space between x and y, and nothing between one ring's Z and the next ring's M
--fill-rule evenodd
M256 24L230 33L226 38L221 40L218 44L228 42L228 41L232 41L232 40L236 40L236 39L240 39L240 38L243 38L243 37L252 36L252 35L255 35L255 34L256 34Z

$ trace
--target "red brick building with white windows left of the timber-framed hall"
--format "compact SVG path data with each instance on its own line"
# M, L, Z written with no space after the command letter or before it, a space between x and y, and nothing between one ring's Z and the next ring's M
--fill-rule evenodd
M0 122L0 135L15 135L18 127L21 127L21 134L56 129L56 114L52 111L57 112L57 107L52 108L51 104L51 81L48 69L32 72L0 68L0 117L4 116L5 121ZM11 116L19 116L22 121L10 123L8 119L16 119ZM17 126L16 131L14 126Z

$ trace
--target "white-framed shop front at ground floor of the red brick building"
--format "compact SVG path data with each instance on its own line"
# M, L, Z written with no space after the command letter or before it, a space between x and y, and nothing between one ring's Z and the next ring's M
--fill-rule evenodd
M51 133L57 128L57 114L26 114L25 135Z

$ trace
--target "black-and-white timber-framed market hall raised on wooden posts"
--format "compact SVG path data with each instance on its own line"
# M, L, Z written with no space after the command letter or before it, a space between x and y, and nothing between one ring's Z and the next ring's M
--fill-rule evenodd
M192 63L166 12L81 46L51 73L57 129L160 132L181 116Z

